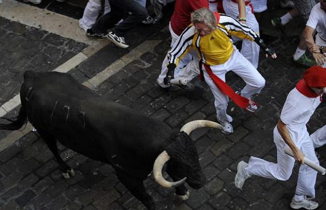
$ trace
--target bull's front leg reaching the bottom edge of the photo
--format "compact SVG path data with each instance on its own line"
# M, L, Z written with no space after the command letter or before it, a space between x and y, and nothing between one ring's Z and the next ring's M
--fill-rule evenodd
M119 169L116 169L116 173L122 184L135 198L140 200L148 209L155 210L155 202L146 193L143 180L132 177Z

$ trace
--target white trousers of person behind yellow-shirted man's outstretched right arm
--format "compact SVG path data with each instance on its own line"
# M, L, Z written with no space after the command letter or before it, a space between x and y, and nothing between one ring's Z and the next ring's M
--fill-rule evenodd
M231 0L223 1L223 9L225 14L230 15L234 18L239 16L238 4L232 2ZM259 24L256 20L255 15L251 11L250 6L246 6L246 24L252 28L257 34L259 34ZM239 38L232 37L234 41L238 41ZM257 69L259 60L259 45L256 42L250 41L248 39L243 39L241 54L250 61L250 63Z

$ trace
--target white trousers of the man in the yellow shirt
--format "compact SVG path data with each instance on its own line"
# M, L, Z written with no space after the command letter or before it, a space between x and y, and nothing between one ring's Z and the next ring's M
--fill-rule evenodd
M210 66L212 72L225 81L225 74L228 71L233 71L240 76L246 86L241 90L241 96L250 98L253 94L259 93L265 86L265 79L257 71L257 69L240 54L239 50L233 46L234 51L230 59L221 65ZM216 116L218 121L232 121L232 118L226 113L229 97L222 93L222 91L216 87L205 68L203 68L204 78L209 85L215 101Z

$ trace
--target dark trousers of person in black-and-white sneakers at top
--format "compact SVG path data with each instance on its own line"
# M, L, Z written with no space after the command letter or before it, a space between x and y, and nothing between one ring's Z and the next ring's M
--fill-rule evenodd
M94 33L106 33L119 20L124 19L123 22L113 28L113 32L117 36L123 37L137 23L142 22L148 16L147 9L134 0L109 0L109 3L111 11L95 22L92 27ZM128 12L132 14L129 15Z

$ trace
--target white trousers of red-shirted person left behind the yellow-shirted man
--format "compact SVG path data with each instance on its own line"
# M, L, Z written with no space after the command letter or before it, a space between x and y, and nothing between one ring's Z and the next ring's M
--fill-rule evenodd
M169 24L169 30L171 33L171 47L173 47L174 43L176 40L179 38L178 35L176 35L172 28L171 28L171 22ZM177 68L174 71L174 77L175 78L184 78L187 82L190 82L195 78L196 76L199 75L199 58L196 54L197 52L194 49L191 49L182 59L180 59ZM162 69L161 73L159 74L157 78L157 83L161 87L168 87L163 83L164 77L166 77L167 72L168 72L168 57L166 56L163 63L162 63Z

